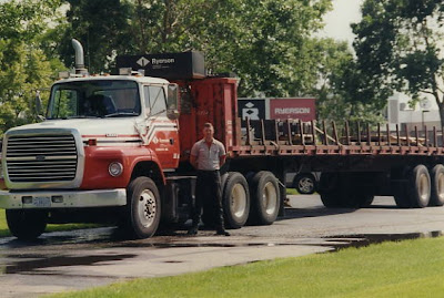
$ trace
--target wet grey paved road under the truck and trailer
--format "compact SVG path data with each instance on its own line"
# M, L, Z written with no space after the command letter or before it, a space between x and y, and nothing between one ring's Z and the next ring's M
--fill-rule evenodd
M441 236L444 207L397 209L376 197L365 209L326 209L319 196L291 196L286 216L272 226L246 226L232 237L185 230L129 242L113 228L43 234L38 243L0 239L2 297L82 289L155 277L303 256L384 239Z

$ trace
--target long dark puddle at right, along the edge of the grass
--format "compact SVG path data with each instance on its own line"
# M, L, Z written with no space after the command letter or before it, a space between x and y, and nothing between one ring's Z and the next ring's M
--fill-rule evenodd
M385 242L402 242L420 238L437 238L444 234L442 230L433 230L430 233L407 233L407 234L364 234L364 235L339 235L324 237L326 244L322 246L331 246L334 249L330 253L335 253L349 247L365 247L372 244L381 244Z

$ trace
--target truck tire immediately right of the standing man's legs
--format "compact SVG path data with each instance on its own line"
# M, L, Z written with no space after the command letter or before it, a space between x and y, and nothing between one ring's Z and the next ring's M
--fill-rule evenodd
M250 214L249 184L241 173L230 172L222 189L225 225L230 228L241 228Z

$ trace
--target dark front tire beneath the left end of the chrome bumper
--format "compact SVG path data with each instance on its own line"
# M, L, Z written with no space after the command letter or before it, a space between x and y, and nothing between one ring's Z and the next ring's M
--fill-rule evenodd
M46 229L47 210L7 209L9 230L20 240L34 240Z

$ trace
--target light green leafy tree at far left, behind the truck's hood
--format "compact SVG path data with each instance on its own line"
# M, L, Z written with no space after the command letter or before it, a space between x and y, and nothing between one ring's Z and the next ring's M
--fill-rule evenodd
M0 4L0 135L36 121L36 91L48 89L54 70L62 66L49 60L38 42L58 4L32 0Z

